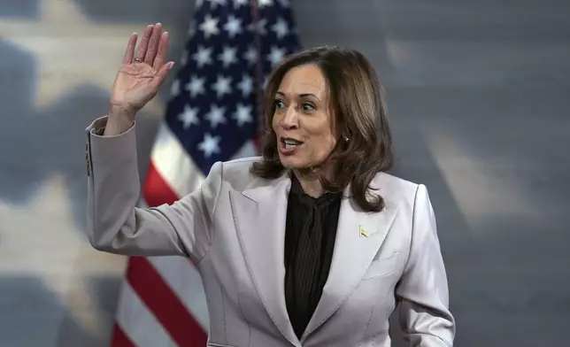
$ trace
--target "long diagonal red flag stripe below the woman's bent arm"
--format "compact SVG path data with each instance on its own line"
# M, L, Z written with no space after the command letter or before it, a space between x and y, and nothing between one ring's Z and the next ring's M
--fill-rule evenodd
M180 347L204 347L207 334L146 258L131 257L127 281Z

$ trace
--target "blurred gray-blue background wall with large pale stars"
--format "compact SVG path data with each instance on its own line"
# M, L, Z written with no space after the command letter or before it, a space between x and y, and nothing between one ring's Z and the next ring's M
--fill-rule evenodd
M394 173L434 203L456 345L567 345L570 3L292 3L304 47L361 50L381 76ZM108 345L125 259L84 235L84 128L128 36L160 21L177 60L193 8L0 4L0 346ZM140 116L142 179L170 83Z

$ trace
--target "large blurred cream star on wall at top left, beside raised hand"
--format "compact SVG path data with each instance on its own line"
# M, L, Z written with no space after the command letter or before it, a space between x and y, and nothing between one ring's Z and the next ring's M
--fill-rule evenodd
M12 42L35 58L36 65L27 67L35 72L30 90L34 106L48 107L82 85L110 90L128 36L141 26L94 22L75 0L36 3L35 18L0 18L1 40ZM158 98L151 104L157 111L162 109Z

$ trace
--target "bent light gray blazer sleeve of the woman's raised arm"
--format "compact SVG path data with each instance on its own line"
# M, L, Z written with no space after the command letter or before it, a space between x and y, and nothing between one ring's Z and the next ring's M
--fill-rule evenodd
M136 207L140 193L135 126L102 136L106 117L87 129L89 242L127 256L179 255L199 262L212 243L212 217L221 186L221 163L201 188L174 204Z

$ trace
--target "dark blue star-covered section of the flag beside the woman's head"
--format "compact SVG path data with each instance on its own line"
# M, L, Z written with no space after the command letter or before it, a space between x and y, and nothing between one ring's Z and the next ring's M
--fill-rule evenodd
M166 124L204 175L256 138L266 76L299 48L289 0L196 2Z

